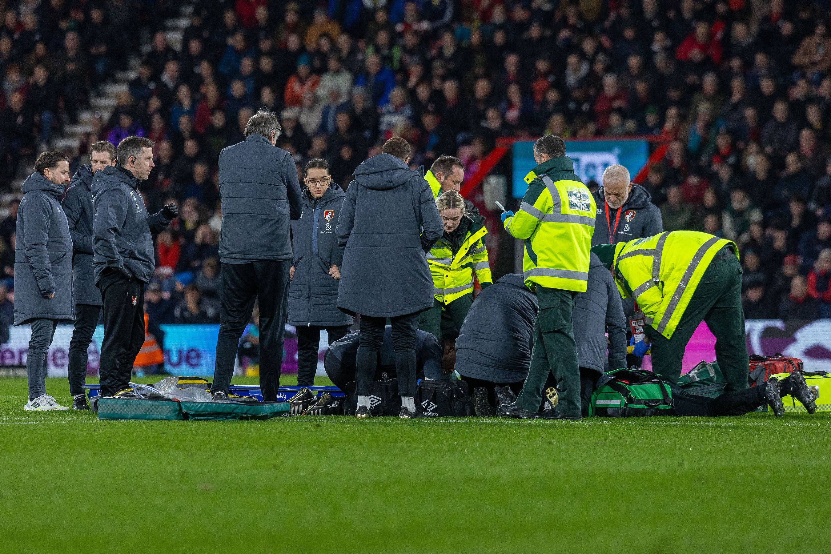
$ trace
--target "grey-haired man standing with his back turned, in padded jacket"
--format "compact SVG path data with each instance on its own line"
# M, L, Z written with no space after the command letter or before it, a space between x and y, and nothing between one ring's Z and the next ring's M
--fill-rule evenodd
M255 301L260 314L260 390L263 400L277 400L292 265L290 223L302 214L294 159L277 147L282 130L273 111L259 110L245 125L245 140L219 153L222 303L214 400L229 393L239 337Z

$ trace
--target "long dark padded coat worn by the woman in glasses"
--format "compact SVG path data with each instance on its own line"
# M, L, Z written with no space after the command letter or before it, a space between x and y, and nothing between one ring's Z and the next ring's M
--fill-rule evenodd
M342 265L335 228L346 194L330 184L319 199L303 189L303 213L292 222L294 277L288 286L288 324L335 327L352 325L352 316L337 309L340 281L329 275Z

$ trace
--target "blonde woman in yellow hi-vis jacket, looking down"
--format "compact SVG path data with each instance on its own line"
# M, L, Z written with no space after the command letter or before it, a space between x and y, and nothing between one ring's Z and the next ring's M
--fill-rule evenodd
M488 229L470 218L465 199L455 190L442 193L435 201L444 232L427 253L433 277L433 307L421 316L419 329L441 341L441 315L446 312L462 328L473 304L474 276L482 288L493 283L484 236Z

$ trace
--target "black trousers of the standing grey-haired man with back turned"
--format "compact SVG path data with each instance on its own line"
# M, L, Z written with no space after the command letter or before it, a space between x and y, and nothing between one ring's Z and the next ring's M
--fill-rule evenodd
M222 302L212 392L227 395L234 375L239 338L251 320L254 301L259 302L260 390L263 400L277 400L283 366L283 336L288 312L290 260L248 263L222 262Z

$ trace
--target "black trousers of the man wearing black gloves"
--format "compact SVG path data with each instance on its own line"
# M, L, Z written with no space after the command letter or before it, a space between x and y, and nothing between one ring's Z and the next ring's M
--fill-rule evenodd
M130 384L135 356L145 342L145 283L106 269L98 288L104 299L101 396L112 396Z

